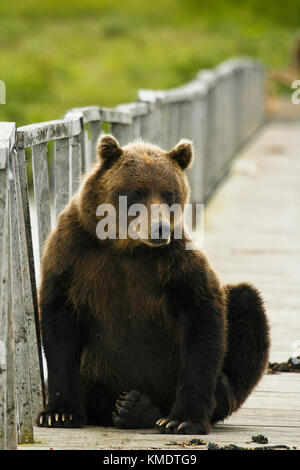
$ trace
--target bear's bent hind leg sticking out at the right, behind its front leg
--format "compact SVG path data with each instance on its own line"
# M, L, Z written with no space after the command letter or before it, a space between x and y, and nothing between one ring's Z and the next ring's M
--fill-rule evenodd
M216 388L213 423L236 411L260 380L268 361L269 326L263 300L249 284L226 285L227 352Z

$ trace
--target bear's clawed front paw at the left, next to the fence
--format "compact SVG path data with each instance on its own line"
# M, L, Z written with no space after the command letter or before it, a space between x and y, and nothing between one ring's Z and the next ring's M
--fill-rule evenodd
M42 428L81 428L84 424L82 415L62 410L42 411L36 419L36 425Z

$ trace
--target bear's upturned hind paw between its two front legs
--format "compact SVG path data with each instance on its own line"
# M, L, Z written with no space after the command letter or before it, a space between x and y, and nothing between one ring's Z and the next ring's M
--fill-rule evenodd
M149 429L155 426L159 418L161 413L150 398L132 390L116 401L112 421L117 428Z

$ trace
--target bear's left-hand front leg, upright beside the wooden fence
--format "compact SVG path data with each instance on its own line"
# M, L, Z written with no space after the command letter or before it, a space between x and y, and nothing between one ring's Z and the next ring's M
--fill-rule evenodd
M81 427L85 406L80 386L84 330L66 302L63 280L44 279L40 292L43 349L47 360L47 405L36 424L41 427Z

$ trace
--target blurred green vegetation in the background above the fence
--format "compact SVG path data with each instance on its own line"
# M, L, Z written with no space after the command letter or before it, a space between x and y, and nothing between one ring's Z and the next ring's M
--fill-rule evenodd
M299 0L2 1L0 120L135 100L138 88L177 86L233 55L288 68L299 25Z

